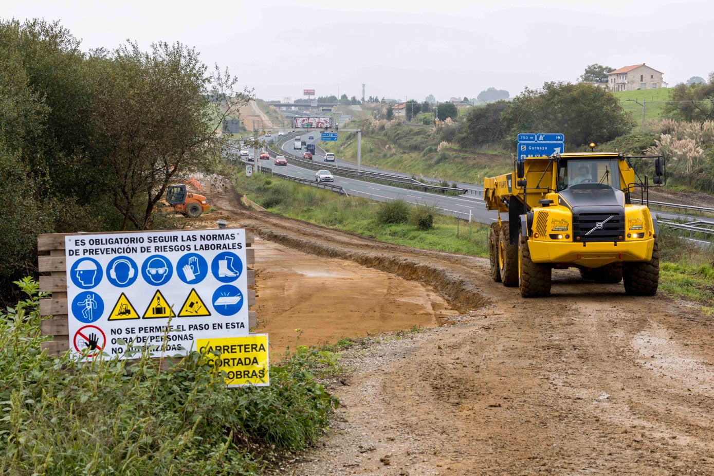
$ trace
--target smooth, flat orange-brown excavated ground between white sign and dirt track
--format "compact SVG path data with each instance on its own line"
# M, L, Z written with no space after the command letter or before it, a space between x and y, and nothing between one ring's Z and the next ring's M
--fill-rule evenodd
M438 325L458 315L433 289L366 268L256 239L255 332L268 333L271 360L296 345ZM299 330L298 330L299 329Z

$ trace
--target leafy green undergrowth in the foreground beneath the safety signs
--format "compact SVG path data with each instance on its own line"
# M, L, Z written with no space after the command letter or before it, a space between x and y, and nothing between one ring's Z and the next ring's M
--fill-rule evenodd
M39 293L0 312L0 474L259 475L262 455L316 440L337 400L321 355L289 355L265 388L226 388L193 353L80 362L40 352Z

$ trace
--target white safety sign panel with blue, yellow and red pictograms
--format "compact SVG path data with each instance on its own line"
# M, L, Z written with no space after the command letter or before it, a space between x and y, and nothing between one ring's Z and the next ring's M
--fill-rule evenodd
M65 246L74 353L124 355L124 340L159 357L248 335L243 229L74 235Z

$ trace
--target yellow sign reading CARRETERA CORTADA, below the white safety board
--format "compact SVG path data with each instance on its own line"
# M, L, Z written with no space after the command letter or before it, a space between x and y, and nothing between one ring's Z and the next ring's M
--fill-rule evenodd
M198 339L196 347L206 355L211 368L223 374L228 387L270 385L267 334Z

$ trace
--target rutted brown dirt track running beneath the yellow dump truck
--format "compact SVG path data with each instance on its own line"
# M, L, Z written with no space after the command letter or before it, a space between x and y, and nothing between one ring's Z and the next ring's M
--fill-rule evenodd
M486 259L376 243L242 210L228 187L216 194L209 219L431 286L463 313L346 352L336 425L278 474L714 474L714 324L692 308L568 271L554 273L550 298L524 300L488 280ZM281 293L266 297L268 308Z

